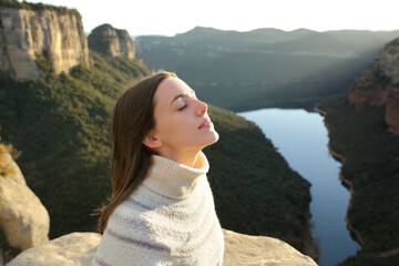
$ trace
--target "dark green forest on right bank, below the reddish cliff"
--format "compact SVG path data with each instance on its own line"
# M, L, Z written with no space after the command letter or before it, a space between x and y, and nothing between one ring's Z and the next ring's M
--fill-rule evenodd
M341 174L355 191L347 215L365 243L340 266L399 265L399 137L387 131L385 105L356 111L342 94L319 108L331 150L345 157Z

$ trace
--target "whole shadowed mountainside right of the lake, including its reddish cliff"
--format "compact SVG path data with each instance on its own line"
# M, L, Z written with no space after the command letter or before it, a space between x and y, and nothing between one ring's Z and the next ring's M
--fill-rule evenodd
M361 245L340 266L399 265L399 39L387 43L347 93L326 100L331 153L351 193L348 229Z

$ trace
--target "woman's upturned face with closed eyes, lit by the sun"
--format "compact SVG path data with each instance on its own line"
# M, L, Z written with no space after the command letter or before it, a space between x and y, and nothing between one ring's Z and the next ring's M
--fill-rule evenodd
M158 141L154 150L160 155L173 158L200 152L218 140L206 103L184 81L177 78L162 81L154 102L155 127L150 135Z

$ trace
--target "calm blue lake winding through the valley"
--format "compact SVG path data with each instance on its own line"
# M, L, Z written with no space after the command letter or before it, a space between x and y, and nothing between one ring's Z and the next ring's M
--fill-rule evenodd
M328 132L318 113L264 109L238 115L255 122L272 140L290 167L311 183L313 235L318 239L320 266L336 266L360 248L347 231L350 200L338 175L340 163L328 152Z

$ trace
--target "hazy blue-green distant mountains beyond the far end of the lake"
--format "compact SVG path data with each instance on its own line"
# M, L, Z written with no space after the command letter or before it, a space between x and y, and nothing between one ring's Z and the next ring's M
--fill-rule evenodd
M194 28L136 38L136 57L170 69L205 101L233 111L307 108L344 92L393 32L248 32Z

